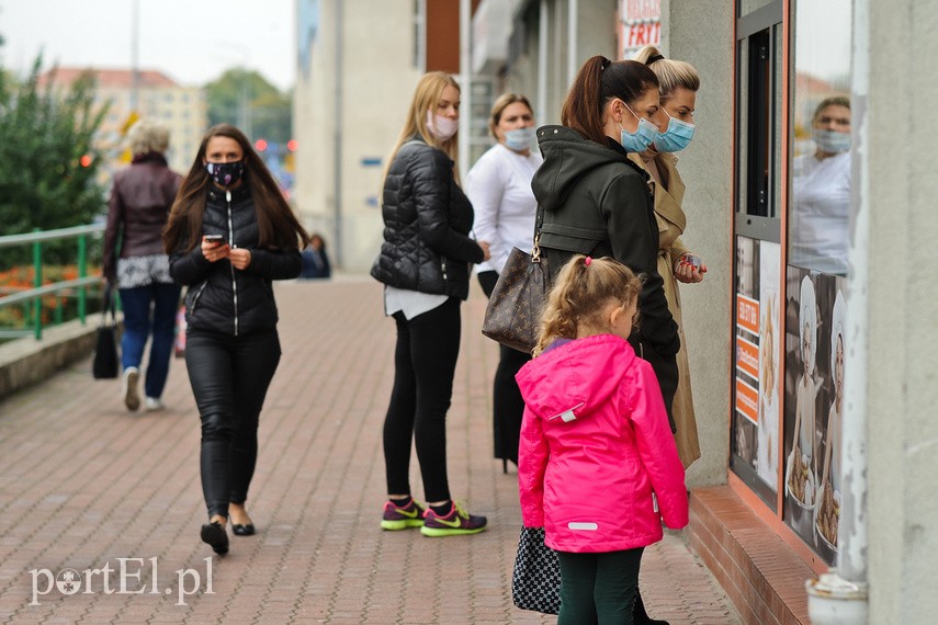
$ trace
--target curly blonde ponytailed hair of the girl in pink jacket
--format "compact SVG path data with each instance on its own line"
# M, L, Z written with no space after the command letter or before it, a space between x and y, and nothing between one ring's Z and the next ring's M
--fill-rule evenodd
M533 354L556 339L576 339L581 329L601 327L603 306L611 299L630 306L638 298L642 280L621 262L603 257L573 257L554 281L541 316L541 336Z

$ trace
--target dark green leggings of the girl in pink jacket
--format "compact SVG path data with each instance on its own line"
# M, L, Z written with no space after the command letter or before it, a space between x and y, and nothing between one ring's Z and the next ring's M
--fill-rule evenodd
M602 554L557 552L561 614L557 625L631 625L644 547Z

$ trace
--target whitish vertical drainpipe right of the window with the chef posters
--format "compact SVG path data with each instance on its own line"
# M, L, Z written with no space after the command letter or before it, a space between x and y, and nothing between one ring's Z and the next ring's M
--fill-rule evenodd
M852 166L850 288L844 354L840 521L837 566L807 580L807 612L814 625L866 624L867 588L867 384L869 378L869 0L854 0Z

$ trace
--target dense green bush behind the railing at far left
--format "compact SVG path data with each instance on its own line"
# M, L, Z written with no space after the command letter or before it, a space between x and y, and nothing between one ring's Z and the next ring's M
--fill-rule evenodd
M55 69L39 80L41 68L42 56L23 82L0 80L3 235L89 224L104 207L104 190L95 182L101 154L92 137L106 106L94 104L94 78L86 73L61 90L55 84ZM16 257L29 252L0 251L4 263L21 262ZM57 260L54 249L49 255L47 261Z

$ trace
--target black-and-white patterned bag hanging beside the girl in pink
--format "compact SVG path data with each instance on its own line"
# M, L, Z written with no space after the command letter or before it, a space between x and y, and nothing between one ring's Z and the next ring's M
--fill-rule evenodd
M511 576L511 600L521 610L544 614L561 611L561 560L544 544L543 527L521 527Z

